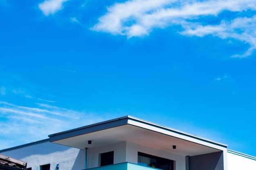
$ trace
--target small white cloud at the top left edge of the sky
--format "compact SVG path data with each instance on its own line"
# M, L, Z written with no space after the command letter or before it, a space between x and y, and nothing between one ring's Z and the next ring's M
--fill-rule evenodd
M49 14L54 14L63 8L63 3L68 0L45 0L44 2L38 4L41 11L48 16Z

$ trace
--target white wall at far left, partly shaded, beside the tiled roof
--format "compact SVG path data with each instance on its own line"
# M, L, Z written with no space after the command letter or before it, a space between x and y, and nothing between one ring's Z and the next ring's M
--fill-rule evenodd
M27 162L27 168L39 170L40 165L51 164L50 170L54 170L56 164L60 164L60 170L82 170L84 169L84 150L70 148L45 142L18 148L0 154L20 159Z

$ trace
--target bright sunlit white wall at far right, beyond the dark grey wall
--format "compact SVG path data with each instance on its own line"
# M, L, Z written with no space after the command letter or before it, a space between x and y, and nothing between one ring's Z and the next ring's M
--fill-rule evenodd
M256 159L249 159L242 155L227 152L228 170L256 170Z

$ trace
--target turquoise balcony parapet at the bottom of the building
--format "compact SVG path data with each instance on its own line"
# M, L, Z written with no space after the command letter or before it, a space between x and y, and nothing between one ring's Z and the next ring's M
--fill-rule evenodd
M148 166L141 166L135 163L117 163L113 165L100 166L97 168L89 168L87 170L160 170L158 168L151 168Z

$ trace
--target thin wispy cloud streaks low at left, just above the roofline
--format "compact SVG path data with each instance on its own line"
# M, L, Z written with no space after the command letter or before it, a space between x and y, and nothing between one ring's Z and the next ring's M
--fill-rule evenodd
M28 107L0 101L0 149L45 139L49 134L97 121L101 118L84 111L49 104ZM4 141L10 141L9 145L3 145Z

